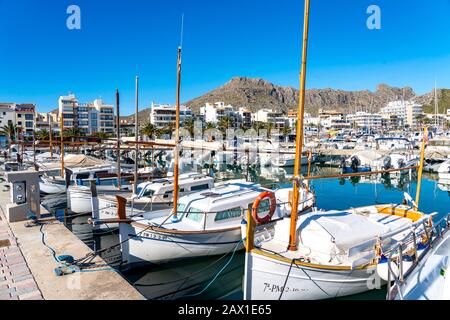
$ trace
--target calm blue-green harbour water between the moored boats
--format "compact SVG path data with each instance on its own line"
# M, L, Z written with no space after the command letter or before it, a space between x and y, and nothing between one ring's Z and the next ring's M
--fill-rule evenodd
M263 168L247 172L234 170L231 173L217 173L218 178L242 178L248 176L263 185L286 185L292 178L293 169ZM306 170L306 169L304 169ZM313 174L335 173L337 169L314 167ZM400 203L404 192L415 198L417 179L414 174L394 177L358 177L351 179L322 179L311 183L317 195L317 206L321 209L343 210L349 207L374 203ZM424 174L420 208L427 213L438 212L438 219L450 212L450 185L438 180L436 175ZM63 199L47 199L47 206L55 208L63 217ZM70 212L69 212L70 214ZM68 218L67 227L92 249L108 248L118 243L118 235L104 233L93 235L91 226L86 224L87 216ZM102 253L111 265L120 263L118 247ZM191 259L162 266L124 271L125 278L149 299L242 299L242 279L244 275L244 254L238 252L230 260L231 254L217 257ZM214 282L211 280L219 270L222 273ZM385 289L371 291L345 299L384 299Z

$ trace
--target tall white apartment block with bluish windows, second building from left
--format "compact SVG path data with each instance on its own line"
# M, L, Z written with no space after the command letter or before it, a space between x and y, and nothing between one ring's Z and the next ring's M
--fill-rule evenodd
M102 99L80 103L74 94L60 96L58 111L63 116L63 129L75 128L84 134L114 132L114 107L103 104Z

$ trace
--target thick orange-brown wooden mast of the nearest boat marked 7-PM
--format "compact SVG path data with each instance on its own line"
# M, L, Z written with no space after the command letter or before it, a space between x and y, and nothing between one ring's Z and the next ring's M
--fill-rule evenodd
M300 94L298 99L297 112L297 135L295 147L295 165L293 180L293 199L291 205L291 226L289 233L289 250L297 250L297 218L298 218L298 198L301 184L300 168L303 149L303 118L305 112L305 81L306 81L306 57L308 51L308 29L309 29L309 0L305 0L305 13L303 21L303 49L302 65L300 71Z

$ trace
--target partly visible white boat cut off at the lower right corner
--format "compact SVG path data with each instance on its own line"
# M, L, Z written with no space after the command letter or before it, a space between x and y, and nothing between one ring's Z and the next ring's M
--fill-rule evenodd
M417 256L408 270L400 274L392 263L395 267L390 270L390 279L395 284L388 285L388 300L450 300L449 218L435 224L431 246Z

